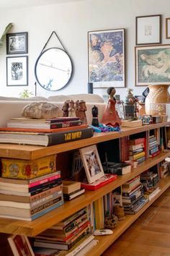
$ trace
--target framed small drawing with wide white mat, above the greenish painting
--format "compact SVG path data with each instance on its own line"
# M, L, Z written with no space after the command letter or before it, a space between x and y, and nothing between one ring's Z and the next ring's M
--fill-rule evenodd
M161 43L161 14L135 17L135 43Z

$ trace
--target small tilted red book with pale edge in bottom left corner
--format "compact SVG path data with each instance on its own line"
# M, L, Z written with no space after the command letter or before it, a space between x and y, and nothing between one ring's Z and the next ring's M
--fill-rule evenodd
M12 252L15 256L34 256L32 247L30 245L27 236L24 235L13 235L9 236L8 242L12 248Z

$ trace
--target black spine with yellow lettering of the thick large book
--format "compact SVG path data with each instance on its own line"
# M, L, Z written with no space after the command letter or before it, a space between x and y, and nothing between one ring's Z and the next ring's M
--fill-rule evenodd
M75 131L56 132L48 134L48 146L65 142L86 139L93 136L93 128L77 129Z

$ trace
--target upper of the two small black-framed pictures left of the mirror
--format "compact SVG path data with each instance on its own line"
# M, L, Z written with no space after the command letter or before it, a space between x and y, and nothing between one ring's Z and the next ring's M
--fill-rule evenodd
M6 34L6 54L27 54L27 37L27 32Z

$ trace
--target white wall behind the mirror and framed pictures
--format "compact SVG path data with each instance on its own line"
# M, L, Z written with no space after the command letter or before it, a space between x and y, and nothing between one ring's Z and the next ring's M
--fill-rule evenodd
M19 96L28 89L35 92L35 61L53 30L73 59L73 79L63 90L49 92L37 85L37 95L87 93L88 54L87 32L90 30L126 29L126 87L140 95L146 87L135 87L135 17L162 14L162 43L165 38L165 18L170 17L169 0L84 0L65 4L27 9L0 10L0 28L9 22L14 26L10 33L28 32L29 86L6 87L6 42L0 48L0 95ZM61 46L53 38L48 46ZM114 86L114 83L113 85ZM94 89L94 93L106 94L105 89ZM117 94L125 98L125 88L117 88Z

